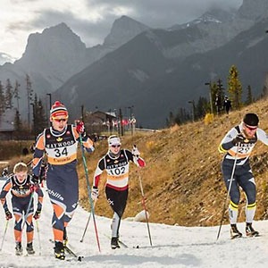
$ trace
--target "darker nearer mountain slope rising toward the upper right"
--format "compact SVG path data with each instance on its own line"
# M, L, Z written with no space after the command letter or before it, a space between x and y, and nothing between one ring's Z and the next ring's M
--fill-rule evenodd
M264 6L258 3L264 1L254 6L263 13ZM189 100L208 96L205 82L219 78L225 82L232 64L241 71L245 88L251 85L259 95L266 68L267 17L259 22L255 16L243 19L244 9L242 5L237 18L224 23L149 29L73 76L54 97L70 106L74 116L80 114L80 105L87 111L96 106L119 111L133 105L138 124L159 128L170 112L190 109Z

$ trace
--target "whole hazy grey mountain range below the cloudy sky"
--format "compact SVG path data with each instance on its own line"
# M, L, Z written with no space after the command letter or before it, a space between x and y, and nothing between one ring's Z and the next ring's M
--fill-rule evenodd
M62 98L66 105L70 105L74 117L80 115L80 105L87 111L96 106L119 111L133 105L139 125L163 127L170 112L176 113L180 106L187 107L188 101L196 100L200 92L206 95L204 80L213 80L222 73L224 80L230 62L236 64L226 49L239 53L239 46L245 55L254 50L264 35L260 33L255 37L254 44L247 39L247 30L265 21L265 7L265 0L256 0L255 4L244 1L236 13L214 9L197 20L169 29L148 29L144 24L122 16L114 21L104 45L91 48L86 48L62 23L54 27L63 28L59 31L46 29L42 34L30 36L22 58L0 67L0 80L13 76L13 80L20 78L22 85L25 84L25 71L28 71L35 91ZM240 45L236 37L243 32L247 44ZM229 45L232 40L238 43ZM70 46L64 46L66 42ZM39 47L46 54L38 51ZM210 53L222 62L214 63ZM230 51L230 54L233 53ZM204 60L204 69L198 71L200 59ZM228 66L227 70L219 71L221 66ZM260 88L255 89L255 92L260 91Z

